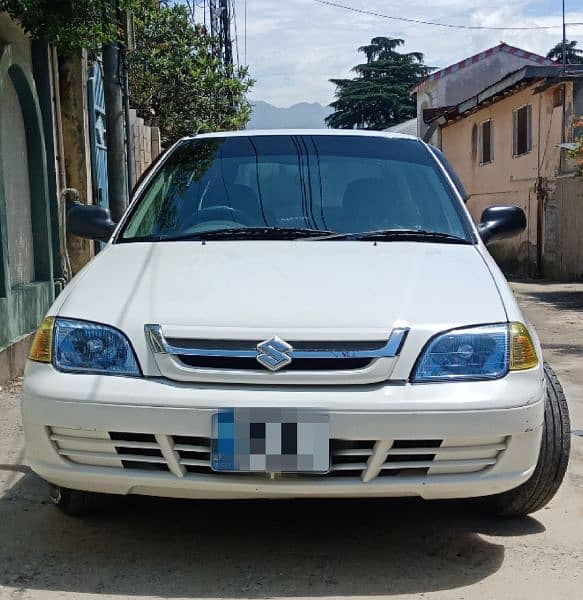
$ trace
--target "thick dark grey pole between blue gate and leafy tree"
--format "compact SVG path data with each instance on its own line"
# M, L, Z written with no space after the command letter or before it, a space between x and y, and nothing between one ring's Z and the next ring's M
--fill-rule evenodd
M117 1L110 0L117 11ZM107 189L111 217L116 223L128 206L122 68L119 41L103 45L103 91L107 140Z

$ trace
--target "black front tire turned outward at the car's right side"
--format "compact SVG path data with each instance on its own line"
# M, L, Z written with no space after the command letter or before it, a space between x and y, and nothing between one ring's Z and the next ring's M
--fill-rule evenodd
M541 447L532 477L513 490L484 496L478 503L490 514L516 517L536 512L557 493L569 462L571 425L563 388L553 369L545 362L547 397Z

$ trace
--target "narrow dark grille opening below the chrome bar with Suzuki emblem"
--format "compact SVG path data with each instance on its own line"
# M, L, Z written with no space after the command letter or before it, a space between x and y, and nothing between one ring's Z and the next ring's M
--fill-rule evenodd
M188 356L179 354L178 359L189 367L198 369L225 369L241 371L262 371L255 358L223 356ZM286 371L347 371L364 369L371 363L370 358L296 358L285 367Z

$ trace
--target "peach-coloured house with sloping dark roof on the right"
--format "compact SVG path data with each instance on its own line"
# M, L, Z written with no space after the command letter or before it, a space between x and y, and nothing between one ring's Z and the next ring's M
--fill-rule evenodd
M502 59L516 50L505 48L492 56ZM516 64L517 55L509 56ZM434 74L417 93L431 89L432 100L442 104L420 107L420 120L458 173L476 221L496 204L525 211L526 231L492 249L507 272L583 279L583 178L565 150L583 135L577 129L583 120L583 68L564 70L532 54L518 58L523 64L513 71L497 67L503 72L498 79L493 63L478 76L476 65L487 59L458 63L457 72L473 69L476 77L470 82L464 75L457 90L451 74Z

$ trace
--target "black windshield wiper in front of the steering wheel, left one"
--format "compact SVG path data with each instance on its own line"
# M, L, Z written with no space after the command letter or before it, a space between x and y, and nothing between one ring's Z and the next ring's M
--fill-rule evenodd
M215 239L293 240L303 237L333 234L333 231L326 229L307 229L301 227L230 227L225 229L211 229L210 231L196 231L177 235L156 235L150 236L148 239L140 239L139 241L180 242Z

